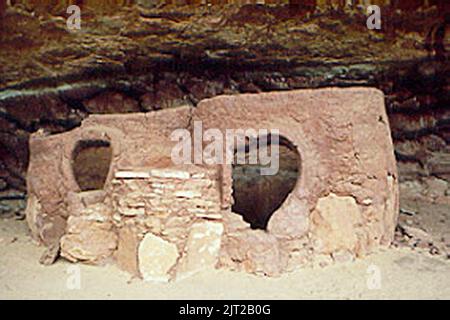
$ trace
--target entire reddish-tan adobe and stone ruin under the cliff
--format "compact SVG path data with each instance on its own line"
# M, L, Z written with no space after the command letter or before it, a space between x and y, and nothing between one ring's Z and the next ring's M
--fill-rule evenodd
M232 212L232 165L175 165L175 129L276 129L301 158L299 178L266 230ZM106 141L100 190L73 171L80 141ZM208 267L279 275L352 259L394 236L397 171L383 93L324 88L220 96L196 108L93 115L70 132L30 138L27 220L71 261L117 264L147 280Z

